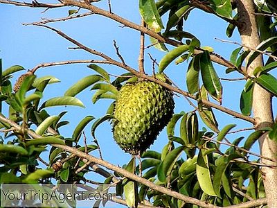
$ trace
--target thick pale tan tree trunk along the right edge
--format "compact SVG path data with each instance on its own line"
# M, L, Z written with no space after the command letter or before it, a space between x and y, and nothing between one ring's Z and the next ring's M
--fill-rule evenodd
M255 10L253 0L237 0L236 2L238 5L240 21L239 31L242 44L249 46L250 48L256 48L256 46L260 44L260 37L256 17L254 15ZM262 65L263 60L262 55L260 55L251 63L247 69L247 73L252 75L253 70ZM271 94L258 84L255 84L253 89L253 116L256 119L256 130L271 126L274 123ZM271 162L268 159L262 159L262 163L276 166L276 142L269 139L268 134L265 134L260 137L259 144L260 154L275 161ZM265 176L264 184L268 207L277 207L277 169L263 167L262 174Z

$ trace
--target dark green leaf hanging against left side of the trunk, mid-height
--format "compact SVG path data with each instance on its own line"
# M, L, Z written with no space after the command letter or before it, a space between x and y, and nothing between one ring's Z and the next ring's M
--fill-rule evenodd
M244 116L251 115L253 103L253 81L247 81L247 85L249 85L249 87L244 87L242 94L240 95L240 111L244 114Z

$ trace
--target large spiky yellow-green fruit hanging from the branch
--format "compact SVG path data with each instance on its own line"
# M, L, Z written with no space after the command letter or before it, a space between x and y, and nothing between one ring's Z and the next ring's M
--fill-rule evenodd
M132 155L142 153L168 124L174 105L172 92L157 83L127 83L121 87L114 109L116 143Z

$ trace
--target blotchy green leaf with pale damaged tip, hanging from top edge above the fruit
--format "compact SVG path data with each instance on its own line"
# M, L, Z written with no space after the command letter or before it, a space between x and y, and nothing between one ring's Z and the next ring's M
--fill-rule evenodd
M139 12L152 31L161 32L163 23L154 0L139 0Z

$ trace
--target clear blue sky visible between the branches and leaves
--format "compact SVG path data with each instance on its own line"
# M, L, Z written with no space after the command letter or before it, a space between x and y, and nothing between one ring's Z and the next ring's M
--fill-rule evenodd
M136 1L111 1L112 11L130 21L134 21L136 24L140 23L140 15L138 10L138 2ZM107 9L107 1L96 3L96 6ZM62 37L49 31L46 28L37 26L23 26L22 23L39 21L41 17L53 19L57 17L66 17L68 10L73 8L62 8L47 10L42 13L44 9L40 8L20 8L16 6L9 6L0 4L0 57L3 59L3 69L6 69L12 65L19 64L26 69L32 69L37 64L42 62L57 62L63 60L78 60L78 59L98 59L95 56L80 50L69 50L68 48L74 46ZM81 10L84 12L84 10ZM163 23L166 23L166 18L163 19ZM64 21L59 23L50 24L55 28L58 28L67 35L80 41L82 44L89 46L92 49L101 51L111 56L111 58L118 59L116 56L113 40L116 40L121 55L125 59L125 62L130 66L138 69L137 59L139 55L139 32L134 31L130 28L120 27L116 21L92 15L81 19L73 19L70 21ZM208 15L199 10L193 10L191 15L188 17L188 21L185 22L184 28L186 31L193 33L202 43L202 46L211 46L216 53L219 53L224 58L229 58L231 51L238 46L233 44L224 44L215 40L215 37L220 39L228 40L225 35L226 22L221 19L217 19L213 15ZM150 44L148 37L146 37L147 43ZM238 32L235 31L233 37L230 40L240 41ZM172 47L168 46L168 49ZM146 73L152 73L152 62L147 55L151 53L154 58L161 60L165 53L158 51L157 49L151 48L145 51L145 69ZM49 85L46 89L44 99L53 96L62 96L66 89L68 89L73 83L77 82L80 78L93 74L94 71L86 67L87 64L74 64L59 67L47 67L39 69L37 76L52 75L61 80L61 83ZM124 73L123 69L118 69L113 66L105 65L102 66L109 73L118 75ZM186 70L188 64L184 62L176 66L170 64L166 73L174 82L181 87L186 89ZM220 77L226 78L227 75L224 73L225 68L215 64L217 73ZM15 75L20 76L20 72ZM229 78L238 78L238 73L228 75ZM14 80L16 80L14 78ZM224 87L224 96L222 105L230 107L231 109L240 112L240 92L244 87L244 81L230 83L222 81ZM85 90L78 95L78 98L86 105L84 109L80 107L56 107L48 108L48 112L53 115L57 115L60 112L66 110L68 113L63 117L64 120L70 121L68 126L62 128L61 132L65 137L71 137L73 129L78 122L87 116L88 114L99 118L103 116L107 110L107 107L111 101L98 101L96 105L91 103L91 97L93 92L89 89ZM175 112L189 112L193 110L188 102L181 96L175 96ZM5 109L4 109L5 112ZM222 114L215 111L217 121L220 123L220 129L224 125L229 123L236 123L238 126L236 129L251 127L249 123L245 123L238 119L233 119L232 116ZM200 127L204 126L200 123ZM86 134L89 139L91 135L89 132L90 128L87 128ZM243 134L242 134L243 135ZM123 153L122 150L115 144L112 139L111 126L108 122L102 123L96 131L96 137L99 140L100 147L102 149L102 155L107 161L122 166L127 163L130 156ZM238 138L240 135L231 136L229 139ZM152 150L161 151L163 146L167 143L166 132L161 132L158 139L154 142L150 148ZM98 155L97 152L93 153Z

